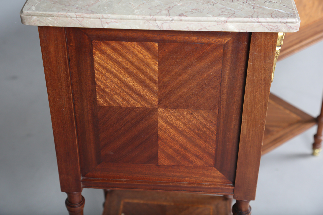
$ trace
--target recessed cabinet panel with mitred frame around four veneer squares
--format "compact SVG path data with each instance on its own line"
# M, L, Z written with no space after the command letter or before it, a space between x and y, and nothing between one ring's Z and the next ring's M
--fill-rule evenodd
M250 33L66 35L82 187L233 193Z

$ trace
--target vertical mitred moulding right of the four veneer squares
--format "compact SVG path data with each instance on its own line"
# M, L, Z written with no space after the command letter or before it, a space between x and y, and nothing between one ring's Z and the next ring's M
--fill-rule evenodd
M251 33L224 44L214 167L234 183Z

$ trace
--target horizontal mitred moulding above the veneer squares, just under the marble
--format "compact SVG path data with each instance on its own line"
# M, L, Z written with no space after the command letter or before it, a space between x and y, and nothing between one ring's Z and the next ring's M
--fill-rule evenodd
M224 44L237 32L80 28L91 40L153 43Z

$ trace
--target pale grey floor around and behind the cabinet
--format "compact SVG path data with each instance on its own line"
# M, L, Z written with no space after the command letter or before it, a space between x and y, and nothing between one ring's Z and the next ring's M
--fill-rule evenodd
M37 28L20 23L25 0L0 0L0 214L67 214L60 192ZM272 92L318 115L323 42L276 66ZM310 156L315 128L261 161L256 215L323 214L323 154ZM85 214L102 212L101 190L84 189Z

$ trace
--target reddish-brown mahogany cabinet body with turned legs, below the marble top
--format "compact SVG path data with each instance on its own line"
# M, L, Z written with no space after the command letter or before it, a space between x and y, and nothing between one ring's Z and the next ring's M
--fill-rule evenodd
M39 26L61 191L255 199L278 33Z

